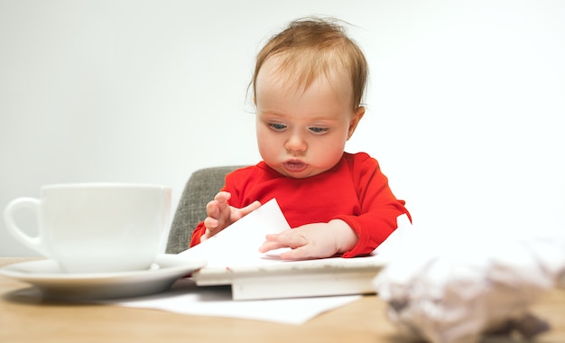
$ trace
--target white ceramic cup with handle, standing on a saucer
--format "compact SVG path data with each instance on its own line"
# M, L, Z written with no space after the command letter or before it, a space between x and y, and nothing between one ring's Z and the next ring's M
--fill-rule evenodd
M29 236L14 212L32 209L38 235ZM40 199L18 198L5 208L8 231L68 273L144 270L160 253L171 210L171 189L127 183L43 186Z

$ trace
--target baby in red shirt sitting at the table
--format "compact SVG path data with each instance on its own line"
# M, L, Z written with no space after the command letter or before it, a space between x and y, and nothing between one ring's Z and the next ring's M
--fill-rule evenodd
M354 257L375 250L406 214L376 160L346 153L365 115L366 58L334 20L294 21L259 52L250 87L262 162L227 175L190 246L276 198L292 229L258 249L282 259Z

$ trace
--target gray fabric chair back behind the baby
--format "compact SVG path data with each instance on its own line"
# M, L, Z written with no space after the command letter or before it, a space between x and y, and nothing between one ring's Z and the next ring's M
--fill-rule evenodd
M167 254L178 254L189 248L192 231L206 218L206 204L224 186L227 173L241 167L243 166L211 167L190 175L172 219Z

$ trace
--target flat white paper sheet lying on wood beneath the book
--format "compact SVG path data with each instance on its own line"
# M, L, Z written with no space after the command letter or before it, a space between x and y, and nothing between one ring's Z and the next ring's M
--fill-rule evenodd
M104 301L115 305L171 311L181 314L264 320L302 324L322 312L359 299L359 295L233 301L228 286L197 287L190 279L173 285L169 292L128 300Z

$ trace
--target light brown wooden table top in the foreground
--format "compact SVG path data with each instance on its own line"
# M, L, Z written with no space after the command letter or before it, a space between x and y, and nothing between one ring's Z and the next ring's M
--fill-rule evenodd
M26 260L0 257L0 266ZM0 342L403 342L385 309L378 297L364 296L303 325L286 325L47 301L29 284L0 276ZM565 291L548 292L533 312L552 326L537 341L565 342Z

